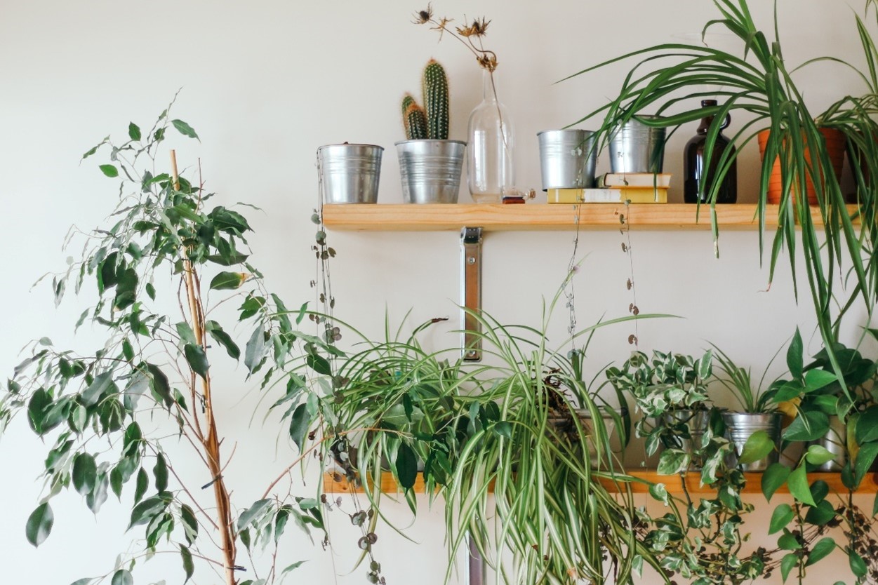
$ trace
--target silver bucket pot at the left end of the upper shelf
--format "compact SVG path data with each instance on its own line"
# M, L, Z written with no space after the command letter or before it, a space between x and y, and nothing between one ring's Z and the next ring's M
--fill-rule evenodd
M384 148L330 144L317 149L323 203L376 203Z

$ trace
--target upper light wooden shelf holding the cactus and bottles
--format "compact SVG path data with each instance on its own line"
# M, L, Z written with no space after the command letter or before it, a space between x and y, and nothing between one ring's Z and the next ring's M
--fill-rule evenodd
M855 208L849 206L853 212ZM323 222L335 230L360 232L446 232L464 226L481 227L486 232L574 230L617 230L620 216L628 216L631 229L709 230L710 208L690 203L500 203L474 204L326 204ZM766 208L766 227L777 226L777 205ZM821 223L816 210L815 223ZM733 203L716 205L716 218L723 230L756 230L756 205Z

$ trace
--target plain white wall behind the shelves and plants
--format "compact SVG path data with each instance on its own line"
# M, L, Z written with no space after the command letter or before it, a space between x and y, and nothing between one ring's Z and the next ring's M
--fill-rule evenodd
M666 42L673 33L698 32L714 16L712 3L703 0L434 4L438 15L492 19L486 44L499 56L500 98L517 125L519 184L534 188L539 187L536 132L569 124L604 103L624 70L553 82L628 49ZM752 4L754 16L769 26L771 3ZM780 4L789 61L831 53L859 62L853 15L844 3ZM181 87L175 116L193 125L202 139L201 144L177 141L181 164L194 166L200 157L207 186L221 201L263 209L250 213L255 261L270 288L289 303L311 298L316 148L345 140L385 146L380 200L397 203L399 171L392 145L402 138L398 103L404 91L418 89L423 63L432 56L449 71L452 138L464 139L467 115L479 101L480 71L471 55L452 39L437 44L435 32L410 24L411 13L420 8L375 0L5 0L0 5L0 371L11 372L30 339L49 335L68 342L82 310L75 300L55 310L45 285L30 290L38 276L63 268L66 253L60 246L69 225L98 225L114 204L114 183L92 161L80 166L80 155L107 133L123 136L129 121L149 125ZM828 78L816 75L824 71L815 68L801 78L816 111L840 92L860 89L853 75L838 68ZM679 132L666 158L668 170L678 177L676 201L681 198L680 149L692 133L694 125ZM757 157L748 152L739 163L743 201L753 198ZM601 168L606 166L601 161ZM465 188L462 199L468 199ZM381 332L385 307L396 322L411 308L412 323L450 316L449 328L457 326L457 234L332 232L330 238L339 252L333 270L340 316L373 335ZM486 310L502 321L536 325L541 297L551 296L565 275L572 238L572 232L490 234ZM641 347L696 352L709 339L760 369L796 324L807 337L810 308L795 307L788 276L779 275L765 291L756 238L752 232L723 233L722 258L714 260L706 232L632 232L640 309L684 317L644 322ZM625 314L629 272L619 234L584 233L579 251L587 256L576 277L579 325ZM556 337L564 332L565 318L558 315ZM625 327L602 332L595 340L593 368L624 360L628 334ZM809 343L811 349L818 346L817 339ZM243 390L225 390L229 409L220 424L228 430L227 444L238 446L228 476L235 502L243 507L261 495L264 480L284 466L290 452L283 440L276 451L283 430L259 430L258 422L248 427L248 420L232 417ZM101 574L120 550L126 524L113 510L92 522L78 496L62 496L55 504L53 536L39 552L26 544L25 518L40 497L33 478L40 471L36 458L42 446L24 432L23 423L18 420L0 443L4 581L66 583ZM398 517L407 524L404 509ZM410 582L408 571L426 585L442 581L440 518L438 510L425 510L414 524L414 543L382 531L377 552L389 582ZM74 531L80 522L84 528ZM345 518L338 515L333 523L344 534ZM352 539L339 540L336 553L305 539L286 551L290 560L311 560L296 578L363 582L362 569L348 576L356 556ZM771 545L771 539L759 542ZM832 573L830 563L821 565ZM169 582L182 579L176 558L149 566L155 579L162 574ZM196 581L216 581L206 575Z

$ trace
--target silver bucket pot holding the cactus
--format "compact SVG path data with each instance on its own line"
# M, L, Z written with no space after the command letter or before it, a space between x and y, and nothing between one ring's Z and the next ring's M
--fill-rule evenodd
M466 143L403 140L396 143L402 199L406 203L457 203Z

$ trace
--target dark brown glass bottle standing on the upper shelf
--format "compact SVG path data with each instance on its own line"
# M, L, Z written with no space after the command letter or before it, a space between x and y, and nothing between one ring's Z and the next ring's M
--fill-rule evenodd
M715 99L702 100L702 108L713 106L716 106ZM716 135L713 153L710 156L710 164L706 164L704 160L704 142L707 140L708 130L713 123L713 119L713 116L702 118L702 123L698 125L698 133L686 143L683 157L683 175L685 177L683 201L686 203L698 202L698 188L702 181L704 182L704 196L701 203L709 203L710 189L713 187L716 168L719 165L719 161L723 158L723 152L731 149L730 154L734 155L735 153L735 146L730 143L729 139L723 136L722 132L731 122L731 116L727 114L725 120L723 120L723 125L720 126L719 134ZM723 183L716 193L716 203L735 203L736 201L738 201L738 161L732 161L729 172L723 177Z

